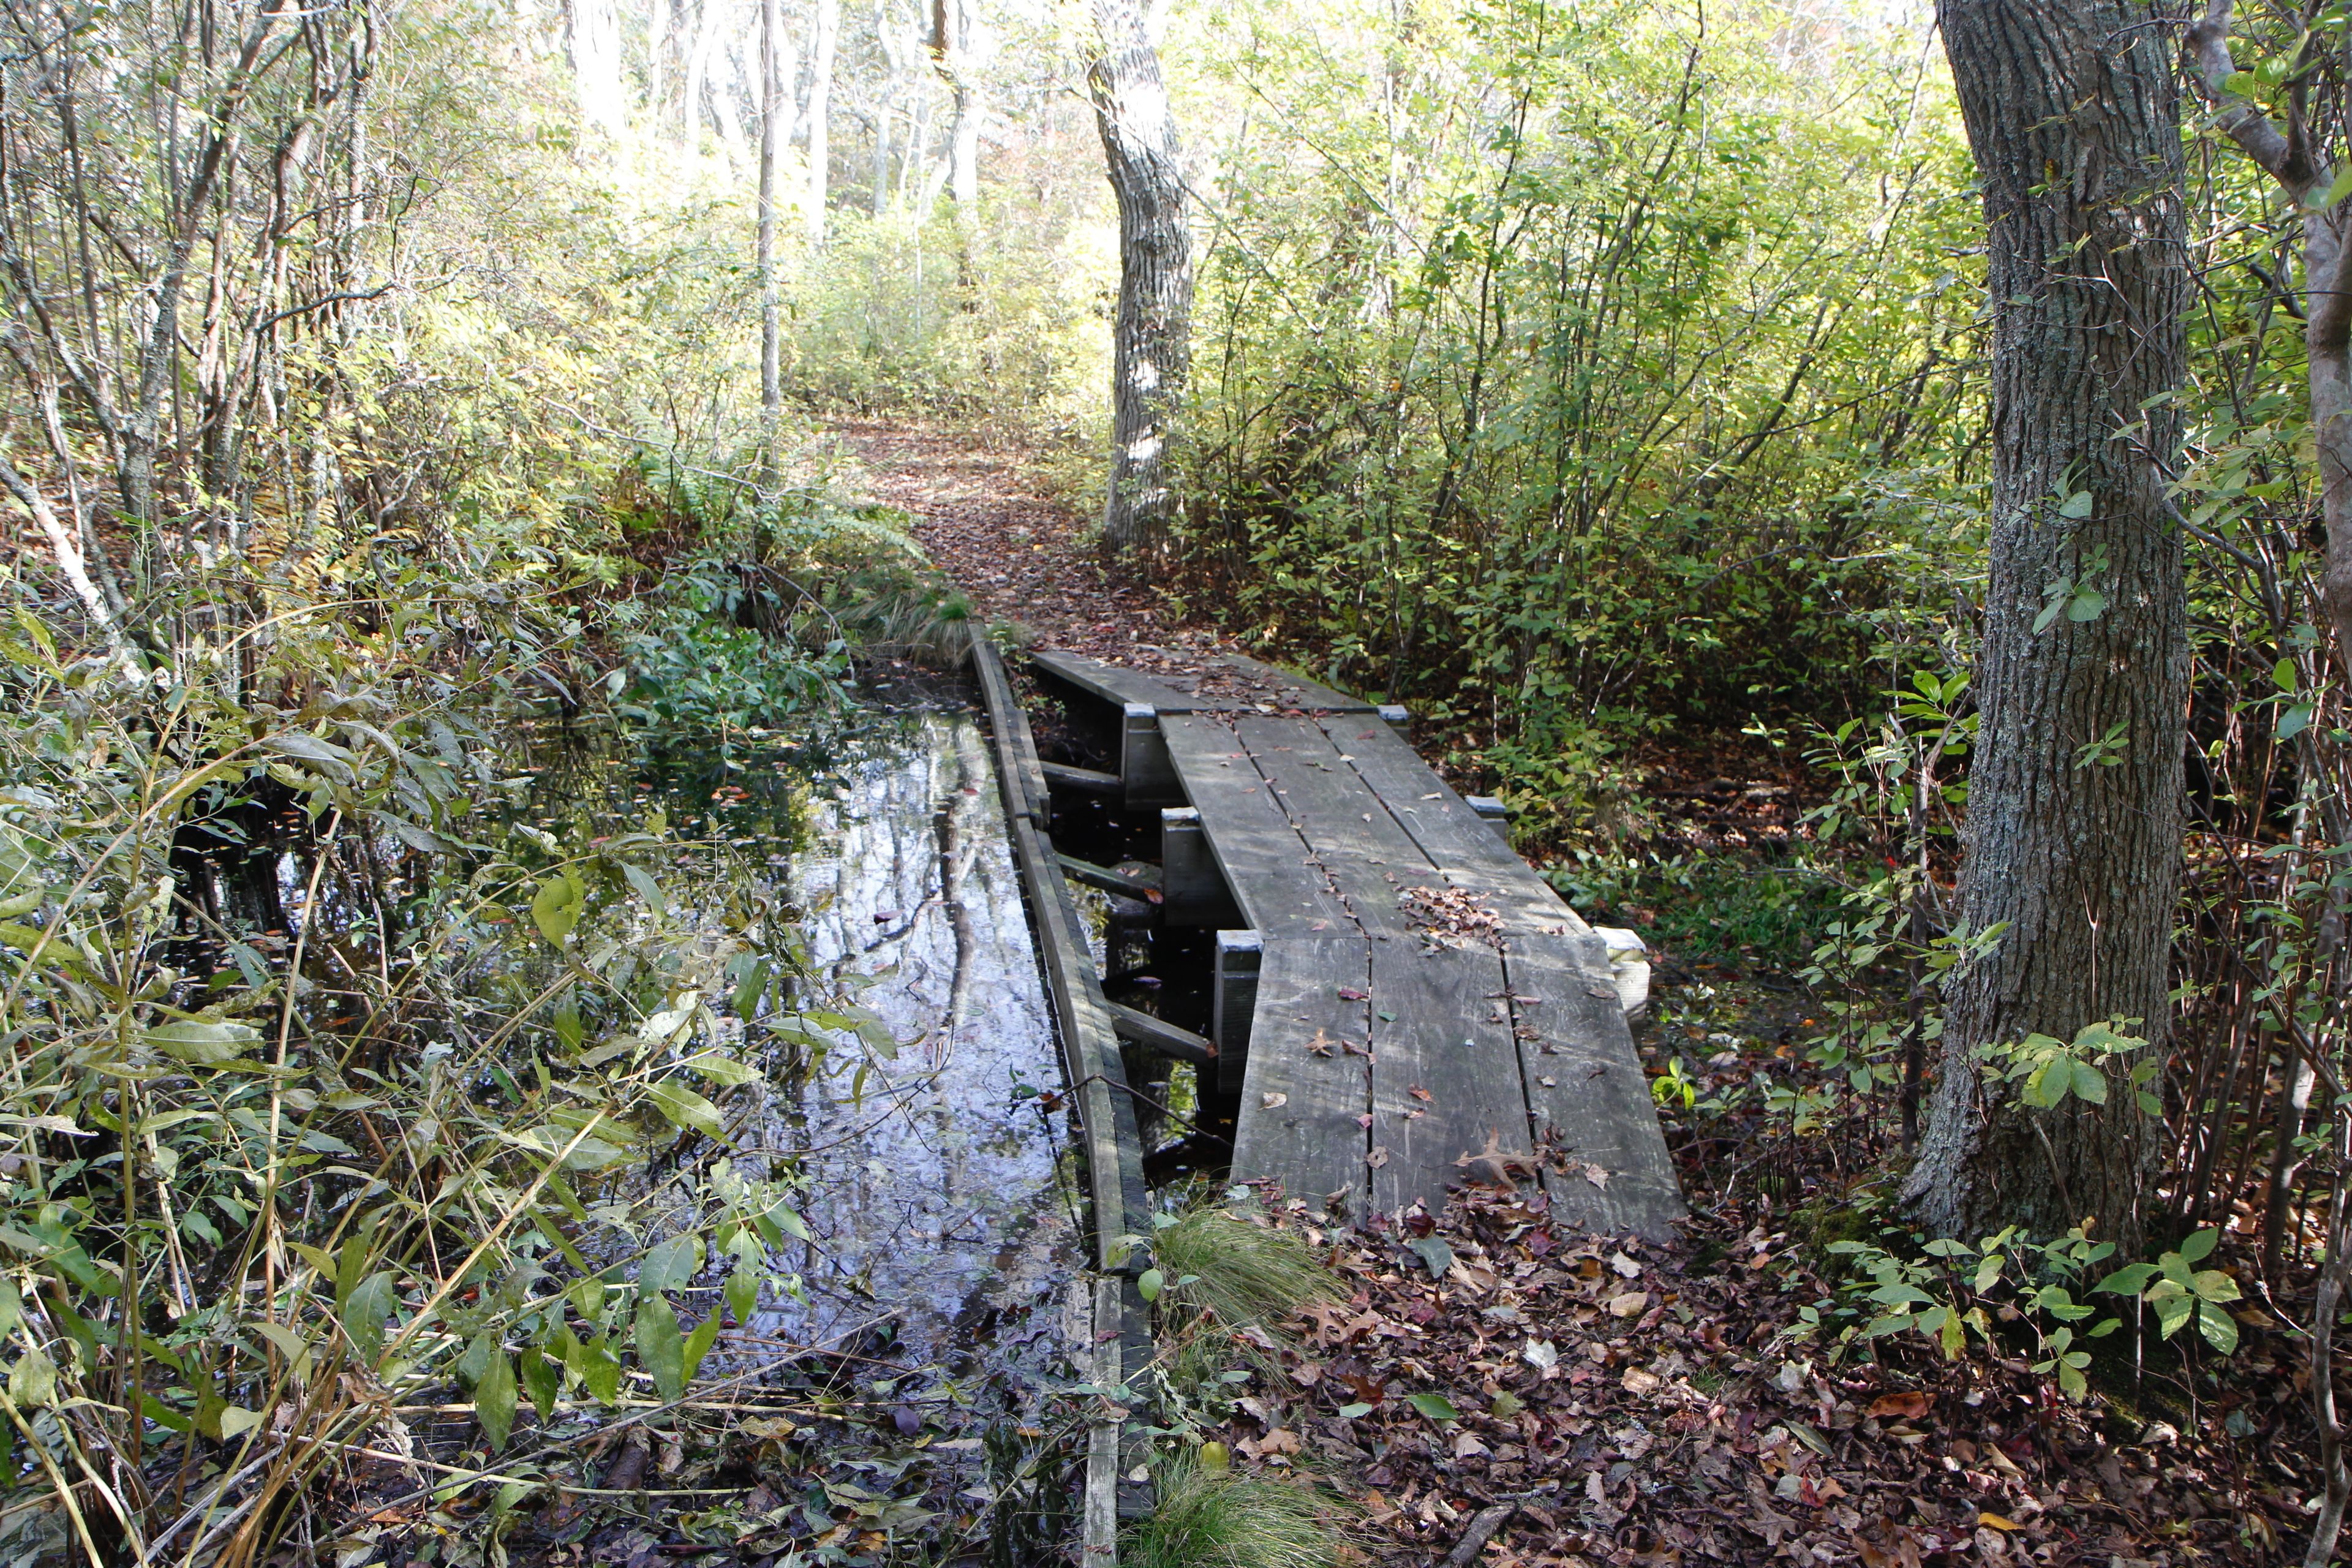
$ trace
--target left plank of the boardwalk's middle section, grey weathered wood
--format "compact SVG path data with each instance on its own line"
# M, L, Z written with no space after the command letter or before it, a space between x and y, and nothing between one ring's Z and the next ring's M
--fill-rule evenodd
M1202 715L1171 715L1162 729L1183 773L1225 886L1256 931L1338 931L1348 907L1331 877L1310 863L1282 802L1232 731Z

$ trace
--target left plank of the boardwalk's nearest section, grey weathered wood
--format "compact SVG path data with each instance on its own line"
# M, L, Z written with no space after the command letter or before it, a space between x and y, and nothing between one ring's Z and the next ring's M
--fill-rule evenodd
M1371 943L1352 931L1291 936L1265 947L1237 1178L1270 1178L1289 1197L1329 1199L1364 1218L1362 1117L1371 1110ZM1359 992L1341 997L1343 990ZM1272 1103L1270 1103L1272 1100Z

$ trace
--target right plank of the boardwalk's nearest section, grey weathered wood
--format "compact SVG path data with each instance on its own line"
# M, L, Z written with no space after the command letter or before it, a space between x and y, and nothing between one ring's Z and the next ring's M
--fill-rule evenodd
M1512 933L1503 969L1526 1074L1529 1107L1541 1133L1557 1128L1571 1161L1602 1168L1606 1185L1581 1171L1545 1173L1555 1213L1611 1232L1665 1237L1684 1215L1682 1182L1665 1152L1658 1107L1642 1056L1632 1046L1599 938Z

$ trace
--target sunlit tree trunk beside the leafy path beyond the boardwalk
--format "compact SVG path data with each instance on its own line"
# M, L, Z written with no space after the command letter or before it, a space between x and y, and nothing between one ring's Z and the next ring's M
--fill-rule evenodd
M1176 517L1171 442L1192 369L1192 233L1176 120L1136 0L1094 0L1087 68L1120 200L1120 315L1110 348L1103 550L1148 557Z

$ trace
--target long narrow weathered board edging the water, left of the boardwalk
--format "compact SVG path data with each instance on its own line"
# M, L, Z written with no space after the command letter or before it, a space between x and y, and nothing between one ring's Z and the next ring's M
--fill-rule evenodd
M1105 1338L1108 1328L1096 1328L1098 1375L1105 1375L1105 1387L1122 1387L1141 1378L1155 1356L1150 1314L1136 1291L1136 1260L1120 1241L1129 1234L1150 1234L1152 1227L1150 1190L1143 1182L1143 1138L1136 1128L1120 1039L1110 1025L1110 1004L1094 971L1070 882L1061 875L1061 858L1042 830L1047 795L1028 717L1014 701L1011 679L993 642L974 642L971 663L995 731L997 785L1011 823L1014 858L1028 893L1037 959L1054 1001L1063 1070L1070 1077L1087 1147L1094 1267L1103 1276L1096 1291L1096 1321L1115 1316L1120 1324L1115 1338ZM1108 1441L1101 1436L1105 1425L1112 1427ZM1117 1521L1150 1512L1152 1502L1150 1481L1129 1479L1145 1455L1138 1443L1124 1439L1124 1418L1098 1420L1087 1443L1082 1549L1084 1561L1101 1568L1117 1568ZM1115 1502L1096 1507L1105 1495Z

